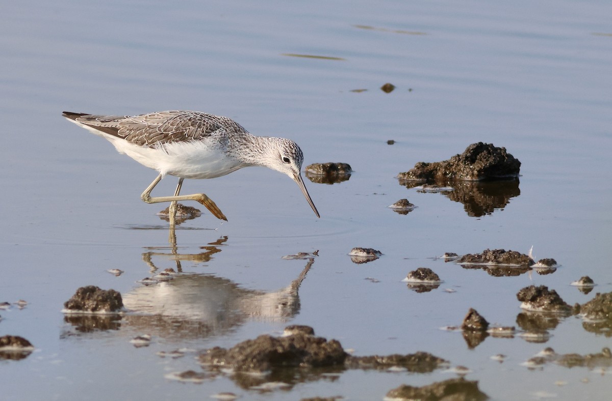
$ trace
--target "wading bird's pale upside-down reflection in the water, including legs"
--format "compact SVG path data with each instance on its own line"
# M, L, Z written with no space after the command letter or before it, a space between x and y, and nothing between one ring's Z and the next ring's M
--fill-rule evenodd
M124 306L129 310L122 325L137 332L171 339L205 338L227 333L249 320L286 322L300 309L298 290L314 258L299 276L278 291L265 292L245 289L239 283L211 273L184 273L181 261L210 261L228 240L221 237L204 251L181 254L171 247L170 253L148 251L143 260L157 272L153 256L171 256L176 262L177 275L171 280L136 287L122 294Z

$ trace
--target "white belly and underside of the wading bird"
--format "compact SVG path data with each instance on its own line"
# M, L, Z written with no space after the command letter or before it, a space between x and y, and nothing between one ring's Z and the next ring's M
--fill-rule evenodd
M162 175L193 179L215 178L244 167L241 162L228 156L224 148L209 146L207 142L211 141L167 143L149 148L110 135L106 139L113 143L119 153L127 154Z

